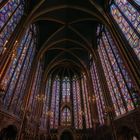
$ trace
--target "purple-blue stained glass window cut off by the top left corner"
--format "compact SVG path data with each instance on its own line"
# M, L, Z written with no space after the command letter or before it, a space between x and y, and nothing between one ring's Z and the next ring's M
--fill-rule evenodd
M0 55L6 50L5 46L23 13L23 0L8 0L0 8Z

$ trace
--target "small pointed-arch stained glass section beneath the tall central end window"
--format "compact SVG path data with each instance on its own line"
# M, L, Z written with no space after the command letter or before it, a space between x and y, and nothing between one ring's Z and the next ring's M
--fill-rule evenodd
M68 107L65 107L61 112L61 125L62 126L71 125L71 111Z

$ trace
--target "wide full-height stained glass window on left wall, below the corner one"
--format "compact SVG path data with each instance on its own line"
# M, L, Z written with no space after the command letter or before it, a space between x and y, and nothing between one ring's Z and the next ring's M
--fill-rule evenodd
M36 25L31 25L21 42L16 41L11 64L2 80L5 87L4 104L9 109L20 107L37 44ZM16 110L15 110L16 111ZM18 112L17 112L18 113Z

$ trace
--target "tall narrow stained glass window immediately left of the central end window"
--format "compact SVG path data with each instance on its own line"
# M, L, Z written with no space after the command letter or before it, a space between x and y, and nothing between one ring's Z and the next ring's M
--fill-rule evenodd
M50 118L50 127L58 128L59 121L59 101L60 101L60 78L56 76L52 85L52 98L51 98L51 112L53 114Z

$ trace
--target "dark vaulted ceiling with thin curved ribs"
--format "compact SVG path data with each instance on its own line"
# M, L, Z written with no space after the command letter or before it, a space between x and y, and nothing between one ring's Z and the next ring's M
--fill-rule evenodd
M31 3L34 7L39 2ZM102 20L96 5L104 8L105 0L46 0L40 5L34 22L39 27L46 71L66 75L89 67L89 48L94 47L96 28Z

